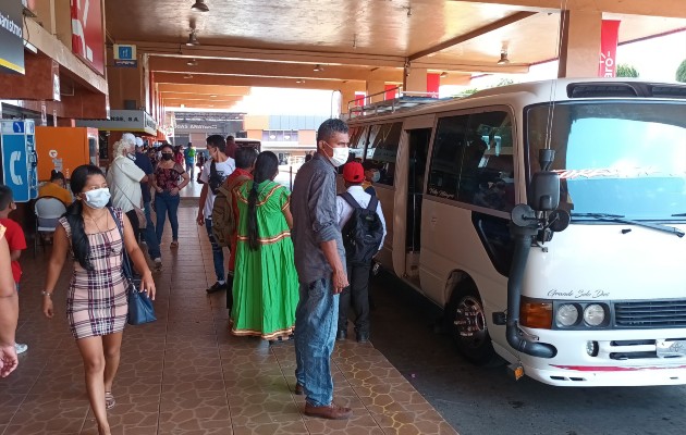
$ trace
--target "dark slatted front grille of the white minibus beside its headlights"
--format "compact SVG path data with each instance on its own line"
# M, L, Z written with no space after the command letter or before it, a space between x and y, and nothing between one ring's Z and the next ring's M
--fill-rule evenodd
M686 300L615 302L616 327L686 327Z

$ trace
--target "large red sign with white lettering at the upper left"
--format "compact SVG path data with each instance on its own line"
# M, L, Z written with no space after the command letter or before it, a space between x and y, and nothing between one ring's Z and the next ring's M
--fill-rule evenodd
M88 66L105 74L105 34L100 0L71 0L72 51Z

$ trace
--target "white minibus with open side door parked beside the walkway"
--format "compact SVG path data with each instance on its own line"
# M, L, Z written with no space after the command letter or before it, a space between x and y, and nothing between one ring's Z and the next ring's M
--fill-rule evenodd
M399 104L400 105L400 104ZM381 265L475 363L560 386L686 384L686 86L555 79L348 121Z

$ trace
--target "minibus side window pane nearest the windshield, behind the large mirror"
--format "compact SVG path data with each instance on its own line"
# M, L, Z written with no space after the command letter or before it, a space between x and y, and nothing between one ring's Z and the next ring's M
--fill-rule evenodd
M514 207L512 122L506 112L469 116L457 196L462 202L500 211Z

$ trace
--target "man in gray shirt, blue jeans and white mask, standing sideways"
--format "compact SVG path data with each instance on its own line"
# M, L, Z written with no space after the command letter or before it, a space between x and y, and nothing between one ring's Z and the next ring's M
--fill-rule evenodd
M333 403L331 377L339 294L348 286L335 206L335 167L347 161L348 141L343 121L324 121L317 130L317 152L298 171L291 196L301 283L295 310L295 393L307 394L305 414L335 420L352 414L350 408Z

